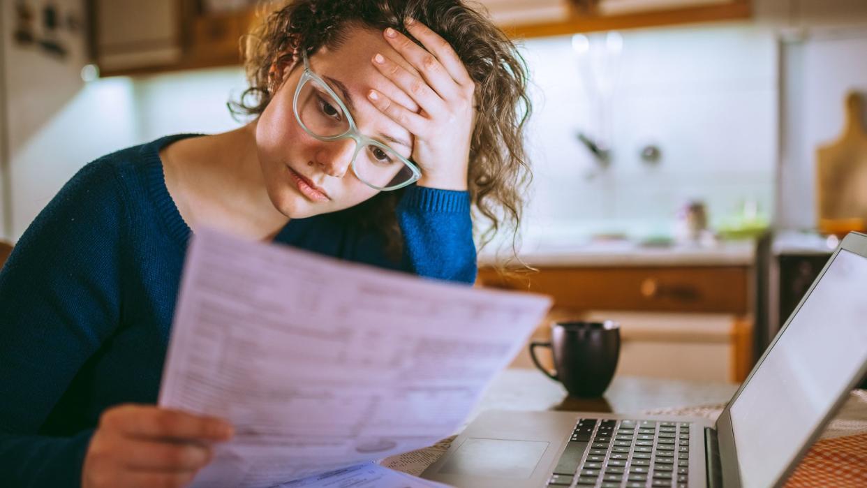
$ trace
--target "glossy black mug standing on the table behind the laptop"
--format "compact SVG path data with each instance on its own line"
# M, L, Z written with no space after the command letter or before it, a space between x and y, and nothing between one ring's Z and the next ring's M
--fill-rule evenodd
M539 364L536 348L551 348L552 373ZM536 368L560 381L570 396L602 396L614 378L620 357L620 325L616 322L556 322L551 342L531 342L530 358Z

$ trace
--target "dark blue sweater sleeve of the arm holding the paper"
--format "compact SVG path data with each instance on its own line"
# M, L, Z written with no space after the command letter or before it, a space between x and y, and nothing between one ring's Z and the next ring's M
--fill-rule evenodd
M92 432L42 426L120 320L122 201L113 166L85 166L0 271L0 472L10 486L81 482Z

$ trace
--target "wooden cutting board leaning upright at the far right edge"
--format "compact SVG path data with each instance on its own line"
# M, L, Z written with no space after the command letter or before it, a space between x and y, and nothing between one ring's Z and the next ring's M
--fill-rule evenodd
M843 135L816 151L818 229L828 233L867 227L867 130L864 99L846 97Z

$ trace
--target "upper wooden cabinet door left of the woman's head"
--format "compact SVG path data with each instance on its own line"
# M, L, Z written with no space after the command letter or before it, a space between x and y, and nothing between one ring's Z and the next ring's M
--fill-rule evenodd
M179 62L180 14L178 0L95 0L95 51L101 71Z

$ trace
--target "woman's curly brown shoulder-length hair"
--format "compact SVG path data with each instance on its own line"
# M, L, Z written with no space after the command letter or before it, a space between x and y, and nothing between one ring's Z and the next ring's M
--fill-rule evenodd
M403 24L407 17L449 42L476 83L478 115L467 183L474 211L490 225L479 233L473 224L474 231L481 248L501 228L511 230L514 255L523 192L532 178L524 149L524 127L531 113L526 63L500 29L461 0L295 0L271 8L242 42L250 87L239 101L230 102L230 109L233 114L262 114L275 90L271 67L292 65L302 52L312 55L323 46L339 49L348 26L391 27L408 36ZM401 190L379 192L336 214L378 231L388 255L396 258L401 255L402 238L394 208L401 194Z

